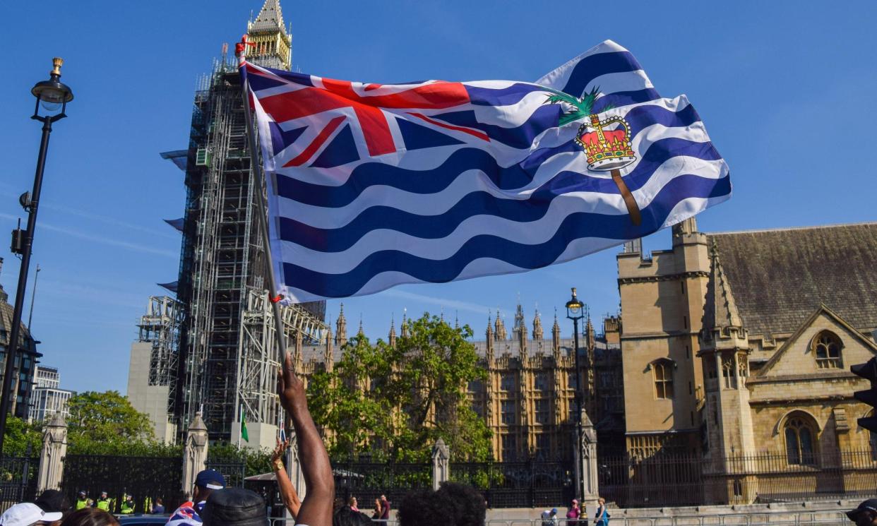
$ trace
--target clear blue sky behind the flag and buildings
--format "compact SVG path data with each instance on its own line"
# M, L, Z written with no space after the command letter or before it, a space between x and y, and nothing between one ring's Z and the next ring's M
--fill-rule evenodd
M261 0L0 5L0 283L14 294L8 249L18 195L32 186L39 124L30 88L51 58L75 93L55 125L32 264L33 332L63 387L125 391L135 323L155 283L174 281L182 173L158 153L187 144L193 91L223 42ZM663 96L688 95L731 166L731 201L698 217L731 231L873 221L877 149L877 3L282 0L294 68L363 82L532 81L603 39L634 53ZM607 4L608 5L608 4ZM870 50L870 51L869 51ZM667 231L645 240L666 248ZM483 334L487 309L511 323L520 298L550 323L576 286L595 316L618 308L615 250L527 274L404 286L345 302L353 330L383 337L403 309L459 316ZM33 275L33 268L31 270ZM31 281L32 282L32 281ZM30 286L29 286L30 287ZM30 288L28 302L30 304ZM329 302L329 316L339 302ZM26 311L25 311L26 318ZM571 327L565 321L564 333Z

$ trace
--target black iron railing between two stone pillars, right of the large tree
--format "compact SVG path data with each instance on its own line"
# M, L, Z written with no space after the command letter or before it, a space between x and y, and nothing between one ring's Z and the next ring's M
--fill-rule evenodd
M575 498L569 462L454 463L450 477L480 490L488 508L554 507Z

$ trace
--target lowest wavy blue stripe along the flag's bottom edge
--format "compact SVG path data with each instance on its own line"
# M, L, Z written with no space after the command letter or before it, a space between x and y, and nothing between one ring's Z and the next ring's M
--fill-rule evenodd
M575 239L597 237L610 239L642 238L658 230L674 206L687 197L719 197L731 193L730 178L718 181L678 179L661 189L659 195L643 212L643 223L631 224L627 215L606 216L574 213L567 216L551 239L540 245L523 245L507 238L475 236L448 259L424 259L400 251L369 254L359 265L345 274L325 274L291 262L283 263L286 285L324 297L356 295L375 275L396 271L420 281L444 283L453 281L472 261L480 258L502 259L521 268L533 269L551 265L567 245Z

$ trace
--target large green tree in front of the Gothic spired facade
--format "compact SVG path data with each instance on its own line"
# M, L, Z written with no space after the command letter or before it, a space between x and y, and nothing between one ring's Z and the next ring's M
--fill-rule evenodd
M441 437L455 459L486 460L490 431L467 399L467 384L483 380L468 326L452 328L424 313L406 322L396 346L363 335L344 347L332 373L311 377L311 413L326 433L330 454L371 452L398 461L424 461Z

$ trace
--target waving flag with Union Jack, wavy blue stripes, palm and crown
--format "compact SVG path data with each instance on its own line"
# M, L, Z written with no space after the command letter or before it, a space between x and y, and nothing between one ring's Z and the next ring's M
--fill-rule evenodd
M609 40L536 82L240 70L283 302L545 267L731 196L688 99Z

